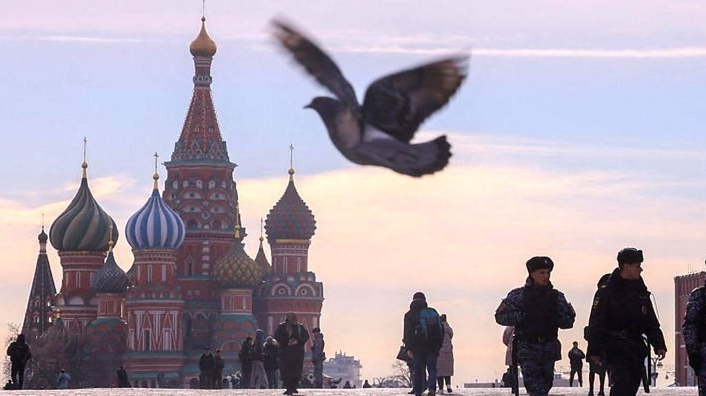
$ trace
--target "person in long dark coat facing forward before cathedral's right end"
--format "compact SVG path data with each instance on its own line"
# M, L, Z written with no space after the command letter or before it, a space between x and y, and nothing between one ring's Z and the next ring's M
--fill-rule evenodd
M285 395L292 395L299 387L301 371L304 369L304 345L309 341L309 332L297 321L294 312L277 326L275 339L280 345L280 375L285 385Z

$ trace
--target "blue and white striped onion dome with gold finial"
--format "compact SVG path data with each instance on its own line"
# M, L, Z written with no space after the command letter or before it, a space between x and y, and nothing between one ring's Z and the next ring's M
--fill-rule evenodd
M184 242L184 221L160 197L155 173L155 187L147 203L132 215L125 226L125 235L133 250L177 249Z

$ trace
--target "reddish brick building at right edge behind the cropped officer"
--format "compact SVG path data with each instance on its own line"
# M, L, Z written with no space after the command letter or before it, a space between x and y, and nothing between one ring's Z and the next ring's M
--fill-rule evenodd
M694 371L689 367L686 359L686 345L681 334L681 326L686 315L686 303L689 301L691 291L704 285L706 272L690 273L674 277L674 371L675 385L695 386Z

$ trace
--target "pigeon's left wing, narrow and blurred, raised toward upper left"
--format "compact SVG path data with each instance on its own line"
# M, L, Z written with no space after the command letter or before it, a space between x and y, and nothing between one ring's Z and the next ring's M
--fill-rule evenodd
M360 105L355 95L355 90L343 73L321 48L313 44L293 27L280 20L273 20L275 37L282 47L289 51L294 59L304 66L306 71L316 78L316 81L328 88L340 101L350 107L356 116L361 115Z

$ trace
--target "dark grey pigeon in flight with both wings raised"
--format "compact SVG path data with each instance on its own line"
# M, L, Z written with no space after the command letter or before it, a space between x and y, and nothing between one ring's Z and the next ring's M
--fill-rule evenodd
M451 146L445 135L419 144L410 141L419 125L460 87L468 56L445 58L379 78L368 87L361 106L330 56L286 23L275 20L273 25L282 47L335 95L316 97L305 108L321 116L343 156L354 163L384 166L414 177L441 171L448 164Z

